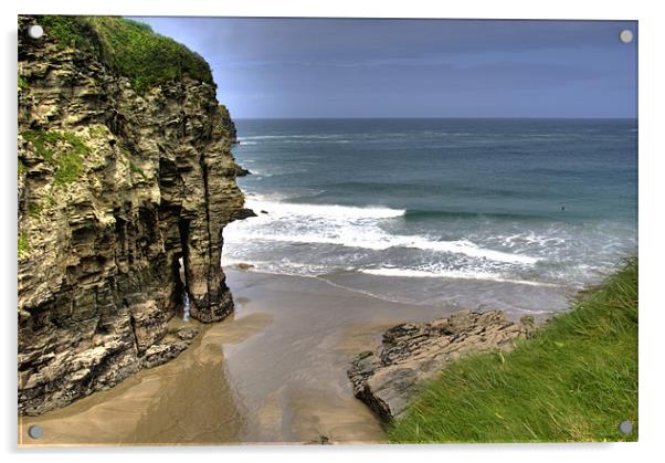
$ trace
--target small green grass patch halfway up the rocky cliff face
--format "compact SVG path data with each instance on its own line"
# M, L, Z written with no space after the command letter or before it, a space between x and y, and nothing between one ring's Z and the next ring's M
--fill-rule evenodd
M55 168L55 186L64 187L78 179L83 171L83 158L89 154L89 148L80 137L68 131L55 130L27 130L22 131L21 136L34 146L39 156ZM21 166L22 162L19 169Z

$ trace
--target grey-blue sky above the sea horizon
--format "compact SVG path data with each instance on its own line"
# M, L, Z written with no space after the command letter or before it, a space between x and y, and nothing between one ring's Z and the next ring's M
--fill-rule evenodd
M134 19L201 54L234 118L636 117L632 21Z

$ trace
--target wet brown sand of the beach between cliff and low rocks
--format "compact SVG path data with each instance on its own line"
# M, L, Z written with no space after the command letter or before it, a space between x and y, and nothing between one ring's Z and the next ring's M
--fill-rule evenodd
M201 325L177 359L64 409L21 420L24 445L384 441L346 369L400 322L445 309L387 302L323 280L229 270L235 313ZM190 322L194 323L194 322ZM28 436L40 424L39 441Z

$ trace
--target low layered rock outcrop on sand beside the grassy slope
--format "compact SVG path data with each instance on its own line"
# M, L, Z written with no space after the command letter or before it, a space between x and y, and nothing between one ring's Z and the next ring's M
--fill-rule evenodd
M383 420L399 418L424 381L468 352L508 349L534 327L530 317L509 322L502 312L461 312L432 323L405 323L383 334L382 346L353 360L353 393Z

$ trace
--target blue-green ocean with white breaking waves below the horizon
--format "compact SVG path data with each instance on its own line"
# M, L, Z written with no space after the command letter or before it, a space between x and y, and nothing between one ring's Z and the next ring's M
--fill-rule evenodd
M222 263L538 312L637 249L634 119L240 119Z

